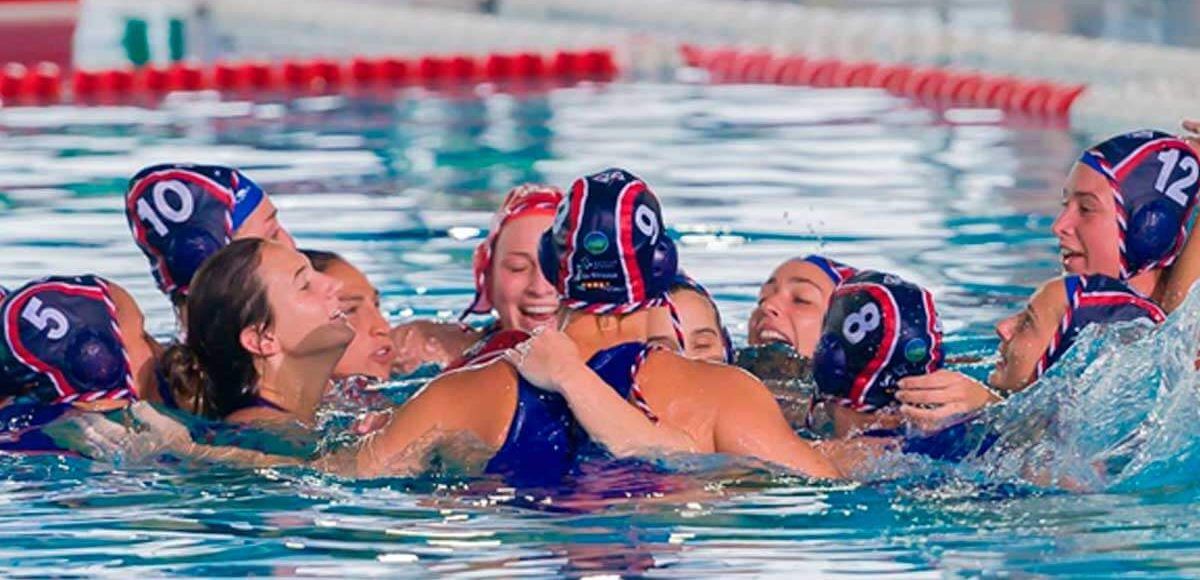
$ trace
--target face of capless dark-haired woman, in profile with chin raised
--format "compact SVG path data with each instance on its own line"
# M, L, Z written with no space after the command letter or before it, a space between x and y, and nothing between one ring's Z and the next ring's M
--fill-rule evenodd
M251 352L266 357L341 353L354 340L354 329L337 299L342 282L314 270L302 253L282 244L265 244L257 274L275 323L262 333L269 340L258 346L253 345L257 336L248 340Z

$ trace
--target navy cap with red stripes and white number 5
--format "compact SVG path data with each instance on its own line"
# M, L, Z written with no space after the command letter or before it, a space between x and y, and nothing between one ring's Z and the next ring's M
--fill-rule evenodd
M50 276L0 303L0 395L56 403L134 399L130 358L108 282Z

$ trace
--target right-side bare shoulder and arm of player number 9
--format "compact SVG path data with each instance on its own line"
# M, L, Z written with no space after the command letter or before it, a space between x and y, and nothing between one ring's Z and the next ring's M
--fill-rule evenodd
M650 408L701 450L758 458L812 477L841 476L792 431L767 387L742 369L656 352L638 378Z

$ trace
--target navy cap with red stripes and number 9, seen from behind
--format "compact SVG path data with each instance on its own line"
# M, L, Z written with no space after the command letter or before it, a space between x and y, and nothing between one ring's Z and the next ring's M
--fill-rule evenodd
M592 313L666 304L679 269L658 197L624 169L571 184L538 259L563 304Z

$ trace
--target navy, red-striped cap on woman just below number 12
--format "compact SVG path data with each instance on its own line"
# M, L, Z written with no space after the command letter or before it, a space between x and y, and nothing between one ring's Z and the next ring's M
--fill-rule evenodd
M1091 324L1166 319L1163 309L1126 282L1102 274L1064 276L1067 311L1054 339L1038 360L1034 378L1040 377L1070 349L1079 333Z

